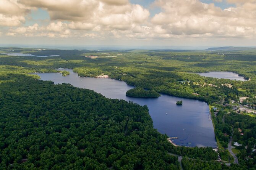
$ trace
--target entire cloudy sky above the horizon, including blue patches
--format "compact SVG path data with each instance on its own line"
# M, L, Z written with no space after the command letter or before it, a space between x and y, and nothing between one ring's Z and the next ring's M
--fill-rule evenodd
M256 0L0 0L0 45L254 47Z

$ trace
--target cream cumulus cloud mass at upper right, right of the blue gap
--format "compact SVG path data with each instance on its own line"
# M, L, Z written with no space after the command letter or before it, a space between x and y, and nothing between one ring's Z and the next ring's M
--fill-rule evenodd
M253 20L255 10L252 7L237 6L222 10L214 4L199 0L156 0L154 5L163 11L156 14L151 22L161 32L168 34L248 37L256 33L256 22Z

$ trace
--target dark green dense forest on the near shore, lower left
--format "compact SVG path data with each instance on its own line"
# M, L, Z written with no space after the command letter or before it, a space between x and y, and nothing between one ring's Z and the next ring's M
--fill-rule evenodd
M167 152L217 159L211 148L170 144L147 106L11 76L15 82L0 85L1 169L178 169Z

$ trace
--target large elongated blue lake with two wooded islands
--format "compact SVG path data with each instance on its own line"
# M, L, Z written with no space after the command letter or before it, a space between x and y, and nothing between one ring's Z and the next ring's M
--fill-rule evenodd
M125 96L127 90L134 86L115 79L79 77L72 69L58 69L70 72L63 77L60 73L36 73L41 80L51 80L55 84L70 83L74 87L87 88L101 93L107 98L133 101L141 106L147 105L154 128L182 146L217 147L212 121L208 119L209 106L203 101L179 98L161 94L159 98L131 98ZM177 106L176 101L183 101Z

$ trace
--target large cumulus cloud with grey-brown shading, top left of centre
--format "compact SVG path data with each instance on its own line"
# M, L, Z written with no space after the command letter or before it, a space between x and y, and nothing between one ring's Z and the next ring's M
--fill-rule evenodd
M43 8L51 20L70 21L75 30L129 29L149 18L149 10L128 0L18 0L30 8Z

